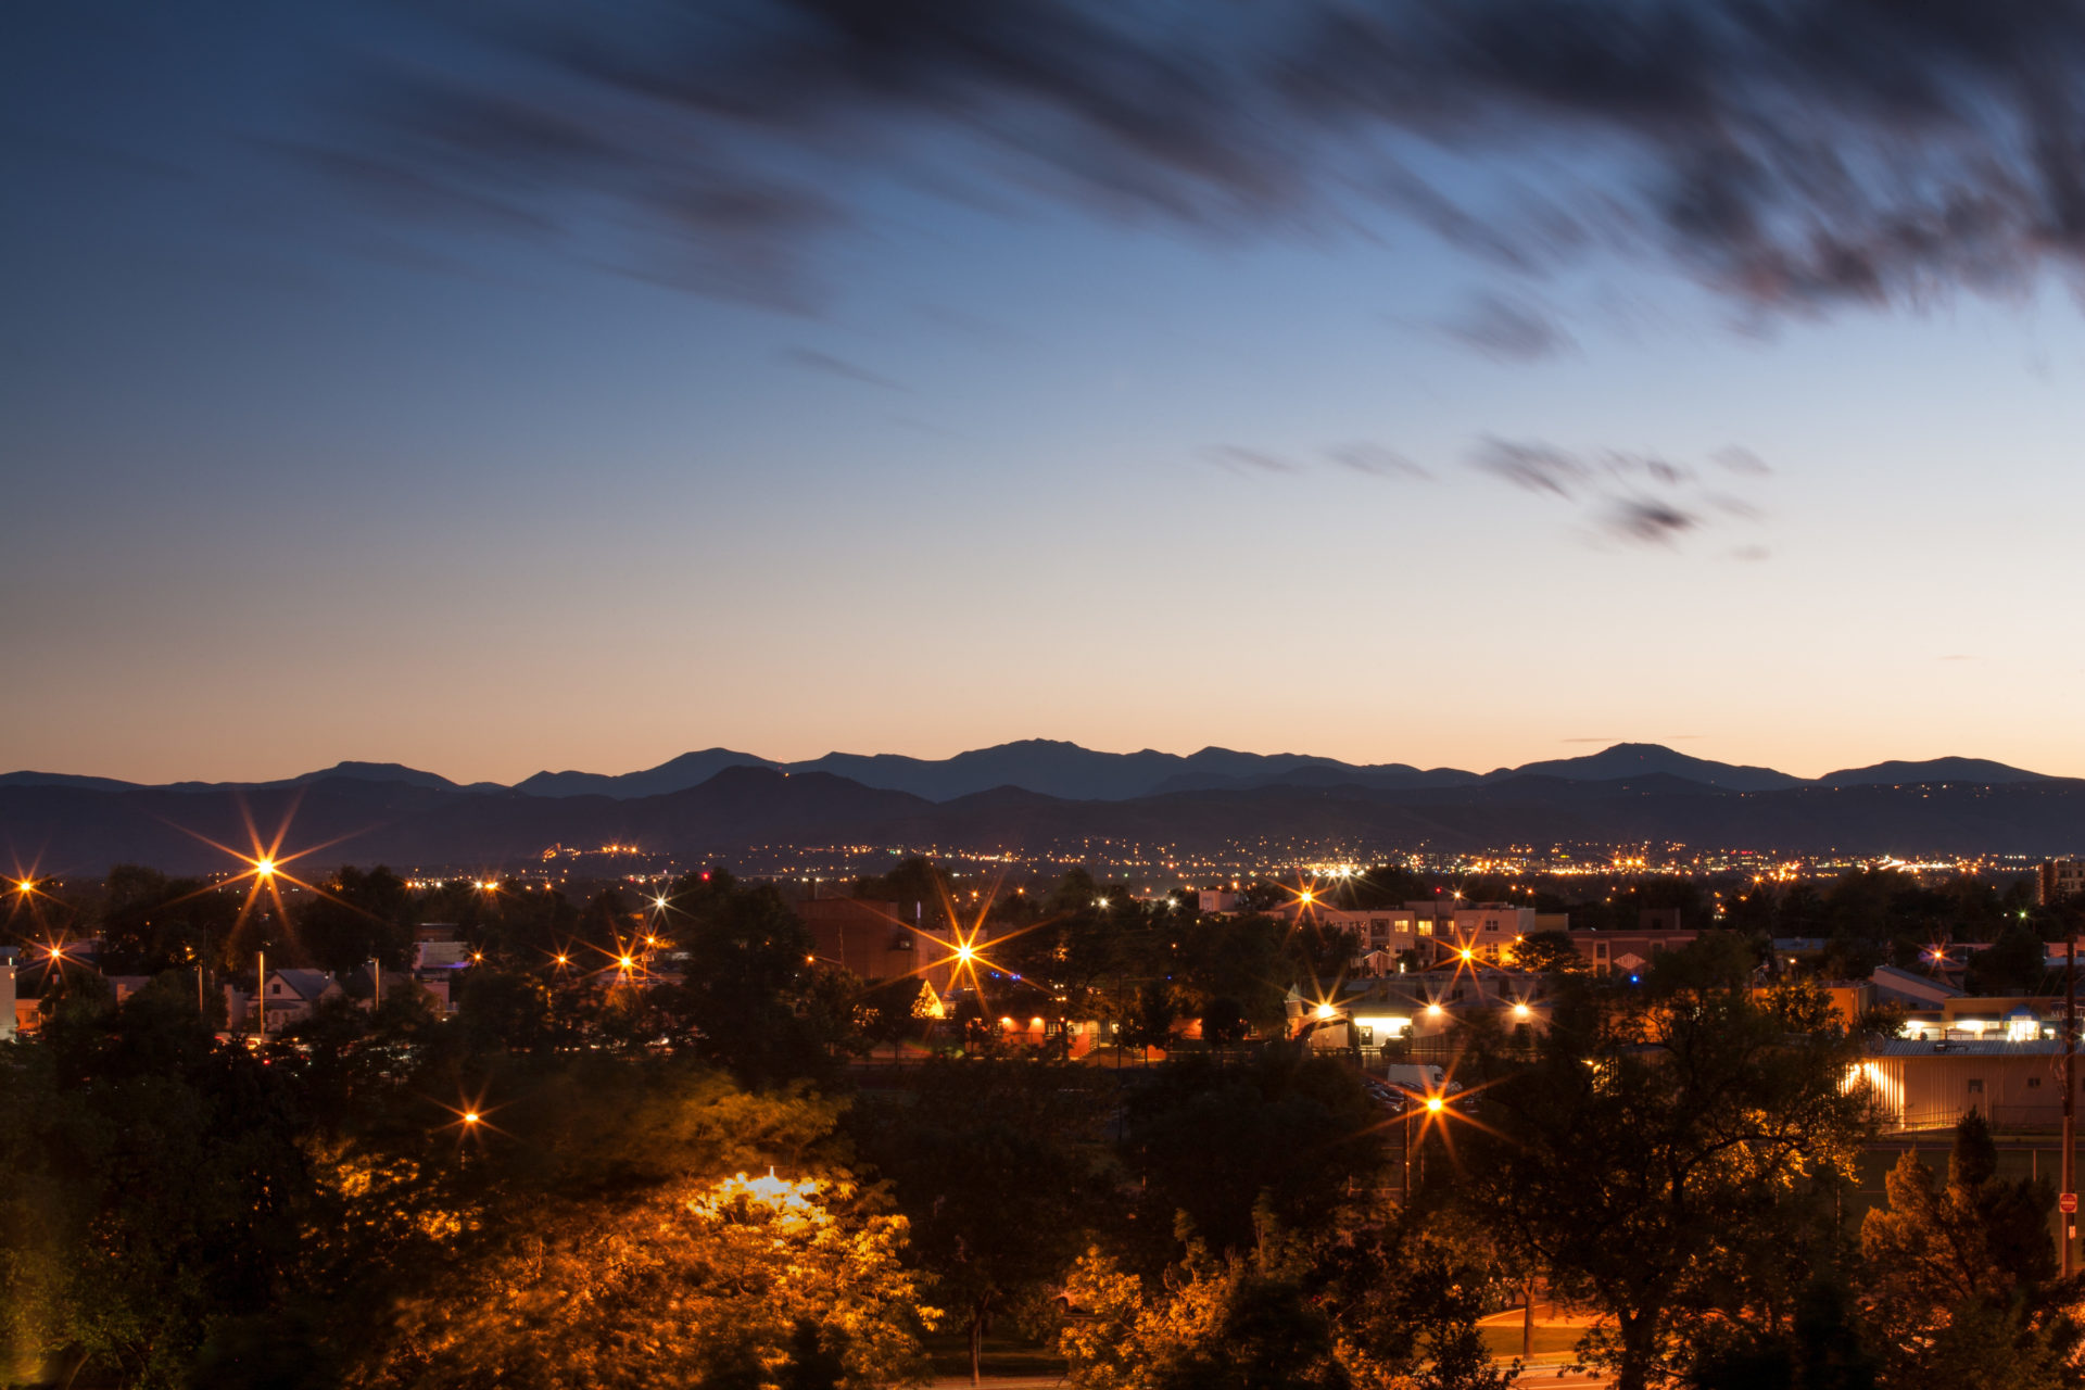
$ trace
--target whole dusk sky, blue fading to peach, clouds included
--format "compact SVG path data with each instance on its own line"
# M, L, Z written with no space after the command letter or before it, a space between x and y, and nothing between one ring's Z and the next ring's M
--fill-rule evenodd
M0 769L2085 775L2085 21L1211 13L6 6Z

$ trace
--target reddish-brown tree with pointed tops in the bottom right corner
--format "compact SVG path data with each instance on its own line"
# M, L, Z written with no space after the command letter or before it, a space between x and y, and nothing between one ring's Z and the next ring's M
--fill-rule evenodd
M1970 1111L1956 1125L1945 1188L1908 1148L1887 1190L1889 1205L1860 1227L1883 1384L2079 1384L2079 1280L2056 1277L2050 1184L2002 1182L1991 1132Z

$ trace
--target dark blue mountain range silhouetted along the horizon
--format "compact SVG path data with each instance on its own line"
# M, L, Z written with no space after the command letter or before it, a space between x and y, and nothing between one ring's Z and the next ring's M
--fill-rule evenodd
M1099 842L1261 863L1314 846L1439 854L1560 842L1787 854L2085 848L2085 781L1983 759L1795 777L1660 744L1616 744L1470 773L1026 740L940 761L834 752L776 763L705 748L644 771L544 771L511 788L459 786L396 763L340 763L265 784L140 786L17 771L0 773L0 852L44 871L98 873L121 861L208 871L225 859L198 836L250 844L248 819L273 823L292 804L294 842L338 840L340 861L484 869L540 861L553 844L611 842L682 861L751 846L1061 857Z

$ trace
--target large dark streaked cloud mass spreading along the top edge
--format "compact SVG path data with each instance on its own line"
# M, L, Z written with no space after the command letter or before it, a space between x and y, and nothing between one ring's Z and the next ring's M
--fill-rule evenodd
M517 217L617 200L694 242L696 283L719 292L786 300L865 169L1222 233L1297 227L1359 190L1503 267L1628 244L1797 313L2010 290L2085 258L2079 4L465 13L446 60L363 73L332 135L342 167ZM1510 171L1503 194L1414 173L1401 140Z

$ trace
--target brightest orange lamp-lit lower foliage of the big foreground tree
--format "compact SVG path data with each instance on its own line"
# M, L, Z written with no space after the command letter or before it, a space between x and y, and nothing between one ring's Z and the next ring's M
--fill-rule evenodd
M350 1384L905 1384L930 1313L903 1240L903 1217L813 1177L690 1177L569 1202L404 1302L386 1355Z

